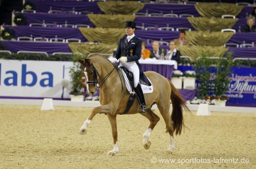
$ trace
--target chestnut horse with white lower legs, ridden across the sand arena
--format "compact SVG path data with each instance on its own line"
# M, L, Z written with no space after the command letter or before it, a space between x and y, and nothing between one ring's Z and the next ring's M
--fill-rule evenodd
M93 117L97 113L106 114L112 127L114 140L114 148L107 154L113 156L119 150L117 146L116 115L122 114L125 111L130 96L128 91L125 90L124 77L116 66L114 66L107 58L104 58L99 54L91 54L86 59L78 59L78 62L82 64L82 70L84 70L84 75L86 77L86 92L90 95L94 95L99 88L100 103L102 105L95 107L92 110L90 117L80 128L79 134L87 133L86 128L90 125ZM170 134L170 145L169 148L167 148L167 151L172 152L174 149L174 131L176 130L176 134L180 134L182 126L184 125L182 108L188 110L188 107L180 96L179 91L167 78L153 71L147 71L145 72L145 75L151 80L154 91L153 93L144 95L147 113L141 113L141 115L149 119L150 125L143 134L143 146L145 149L150 148L151 142L149 141L149 136L160 119L151 110L152 106L156 104L166 124L166 132L169 132ZM173 106L171 116L169 112L170 99ZM127 114L138 113L138 106L139 103L136 98Z

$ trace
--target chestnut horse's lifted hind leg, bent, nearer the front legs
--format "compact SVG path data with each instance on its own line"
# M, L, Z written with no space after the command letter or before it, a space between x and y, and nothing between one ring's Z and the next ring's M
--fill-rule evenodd
M142 115L150 121L150 126L143 134L143 146L145 149L149 149L151 146L151 142L148 140L149 136L160 118L156 114L154 114L154 112L151 109L148 109L147 113L142 113Z

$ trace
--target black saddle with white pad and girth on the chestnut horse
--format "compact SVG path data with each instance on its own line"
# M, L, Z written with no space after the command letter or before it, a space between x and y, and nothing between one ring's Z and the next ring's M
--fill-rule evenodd
M121 70L121 72L124 76L127 91L130 93L127 107L126 107L125 111L122 113L122 114L127 114L130 107L134 103L135 94L136 94L134 91L134 87L133 87L133 74L124 66L120 66L119 69ZM148 78L148 80L149 80L149 78ZM153 92L153 85L150 80L149 80L149 82L151 85L146 84L142 79L139 80L143 94L149 94L149 93Z

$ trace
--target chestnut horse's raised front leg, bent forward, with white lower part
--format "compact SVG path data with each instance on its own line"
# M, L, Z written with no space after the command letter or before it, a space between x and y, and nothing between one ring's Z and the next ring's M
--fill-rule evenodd
M87 133L87 126L90 125L93 117L97 114L97 113L105 113L105 114L111 114L113 111L112 111L112 106L110 105L103 105L103 106L98 106L98 107L95 107L93 110L92 110L92 113L90 115L90 117L84 122L83 126L80 128L79 130L79 134L86 134Z

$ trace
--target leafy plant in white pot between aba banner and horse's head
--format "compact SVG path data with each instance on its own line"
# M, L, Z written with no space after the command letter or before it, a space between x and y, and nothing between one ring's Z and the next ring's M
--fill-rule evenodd
M84 100L84 88L85 88L85 77L81 70L81 64L74 61L74 65L69 71L71 77L72 90L70 91L71 101L83 102Z

